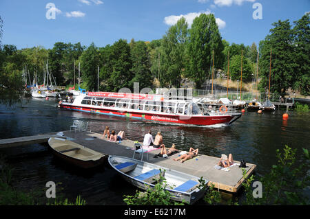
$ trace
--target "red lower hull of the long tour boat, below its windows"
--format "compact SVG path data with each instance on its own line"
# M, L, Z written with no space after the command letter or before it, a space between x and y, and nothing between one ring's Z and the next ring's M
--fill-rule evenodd
M236 113L232 115L169 115L160 114L155 112L147 113L143 112L130 112L130 111L119 111L113 108L94 108L85 106L74 106L72 104L59 104L60 108L65 108L74 111L83 111L88 113L99 113L103 115L114 115L119 117L128 117L132 119L142 119L155 122L169 122L174 124L191 124L199 126L209 126L214 124L231 124L236 121L241 114Z

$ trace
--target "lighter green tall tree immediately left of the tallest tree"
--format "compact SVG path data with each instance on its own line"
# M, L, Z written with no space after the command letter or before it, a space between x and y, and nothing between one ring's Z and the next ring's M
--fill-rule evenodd
M188 24L185 18L178 20L176 25L169 27L161 43L161 84L180 87L181 74L185 70L188 41Z

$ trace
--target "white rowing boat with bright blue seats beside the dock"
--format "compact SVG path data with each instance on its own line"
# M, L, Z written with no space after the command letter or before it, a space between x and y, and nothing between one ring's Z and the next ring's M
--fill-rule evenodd
M198 188L200 178L197 176L127 157L109 156L108 162L125 181L140 189L154 187L156 181L163 176L167 182L165 189L173 200L185 200L192 205L204 195L203 190ZM206 179L205 183L208 183Z

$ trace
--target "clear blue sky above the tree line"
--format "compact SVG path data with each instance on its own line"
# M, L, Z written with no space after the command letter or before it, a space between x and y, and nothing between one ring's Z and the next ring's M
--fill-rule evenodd
M47 19L48 3L55 19ZM262 19L254 19L260 3ZM200 13L213 13L220 34L229 43L257 45L272 28L271 23L289 19L291 24L310 11L310 0L1 0L3 44L17 49L56 42L97 47L119 38L152 41L162 38L170 25L185 16L189 23Z

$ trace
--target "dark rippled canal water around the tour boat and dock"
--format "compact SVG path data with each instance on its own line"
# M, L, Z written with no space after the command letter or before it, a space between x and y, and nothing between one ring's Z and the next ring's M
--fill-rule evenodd
M148 130L153 135L161 131L167 146L175 143L180 150L199 148L201 154L214 157L231 153L236 160L256 164L259 175L267 174L271 165L277 163L276 149L282 150L285 145L297 148L298 163L302 162L302 148L310 150L310 113L289 111L289 119L284 121L284 110L247 112L231 126L201 127L66 111L56 104L52 98L30 98L12 106L0 105L0 139L69 130L73 121L79 119L89 122L92 132L102 133L105 126L110 126L110 130L124 130L127 138L138 141L143 141ZM48 147L41 144L1 149L0 154L8 156L14 168L13 185L23 191L41 191L45 195L45 184L54 181L56 195L69 200L81 195L88 205L125 205L123 196L136 191L108 165L87 172L77 170L55 159ZM306 192L309 194L309 190Z

